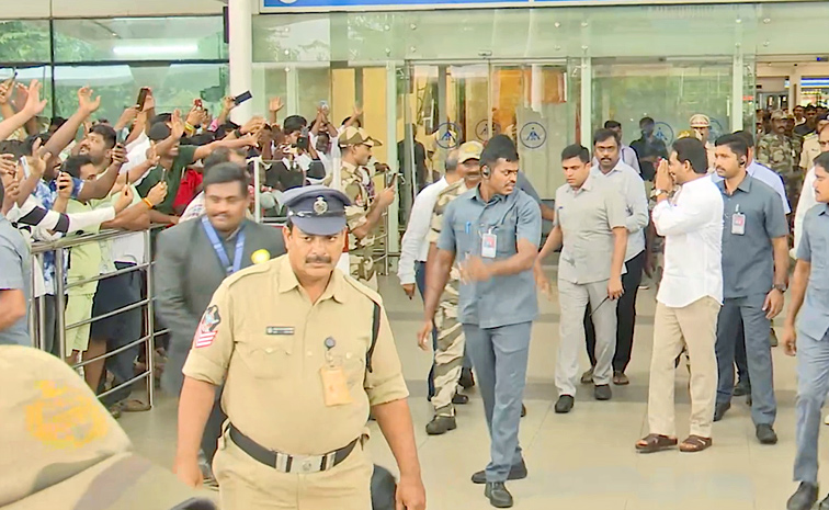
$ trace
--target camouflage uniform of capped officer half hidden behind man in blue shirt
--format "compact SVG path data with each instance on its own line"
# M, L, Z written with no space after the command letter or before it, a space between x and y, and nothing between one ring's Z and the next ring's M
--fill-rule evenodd
M464 181L457 181L438 195L432 212L432 226L427 240L438 242L443 229L443 213L448 204L464 194ZM438 329L438 349L434 351L434 396L432 405L435 416L455 416L452 397L457 392L457 382L464 365L465 337L461 322L457 321L457 299L461 290L461 270L455 263L450 271L450 279L441 294L441 302L434 314Z

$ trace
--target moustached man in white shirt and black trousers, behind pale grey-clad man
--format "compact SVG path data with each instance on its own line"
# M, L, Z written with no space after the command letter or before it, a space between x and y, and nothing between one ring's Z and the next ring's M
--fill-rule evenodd
M629 384L625 370L631 362L633 351L636 295L645 269L645 228L648 226L648 197L645 193L645 182L636 170L622 160L621 146L622 141L613 129L595 132L593 151L599 163L590 170L590 174L597 180L606 182L622 195L626 213L627 248L625 271L622 276L624 294L616 306L616 345L613 354L613 384L615 385ZM584 314L587 350L591 366L595 366L595 332L589 314ZM595 382L592 369L582 374L581 382L582 384Z

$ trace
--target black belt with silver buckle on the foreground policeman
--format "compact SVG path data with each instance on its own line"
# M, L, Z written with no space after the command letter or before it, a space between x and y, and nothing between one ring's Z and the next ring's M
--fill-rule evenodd
M241 433L232 423L229 426L229 432L230 440L242 452L250 455L253 460L282 473L310 474L331 469L344 461L354 450L357 441L360 441L360 438L357 438L340 450L334 450L322 455L288 455L287 453L268 450Z

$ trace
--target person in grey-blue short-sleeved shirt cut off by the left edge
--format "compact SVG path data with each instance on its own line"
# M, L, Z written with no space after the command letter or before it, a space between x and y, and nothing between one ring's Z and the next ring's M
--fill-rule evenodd
M0 204L3 204L4 197L4 186L0 184ZM29 245L0 212L0 344L31 345L31 285Z

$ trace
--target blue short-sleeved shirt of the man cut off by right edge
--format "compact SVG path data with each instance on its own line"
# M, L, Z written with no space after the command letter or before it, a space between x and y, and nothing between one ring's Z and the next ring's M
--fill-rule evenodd
M821 340L829 330L829 205L818 204L806 213L797 259L811 264L797 328Z

